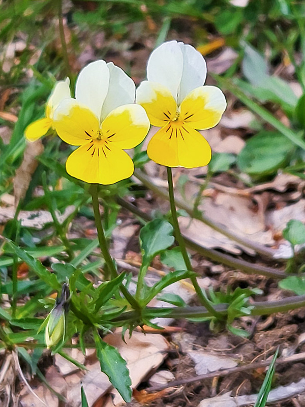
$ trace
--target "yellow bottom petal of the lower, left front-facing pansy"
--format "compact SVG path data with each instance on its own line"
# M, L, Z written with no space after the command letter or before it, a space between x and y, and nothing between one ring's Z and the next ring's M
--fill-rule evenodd
M66 163L68 174L89 184L114 184L132 176L134 165L129 155L111 146L102 149L98 141L84 144L75 150ZM103 142L100 142L103 146ZM94 150L95 149L95 150Z

